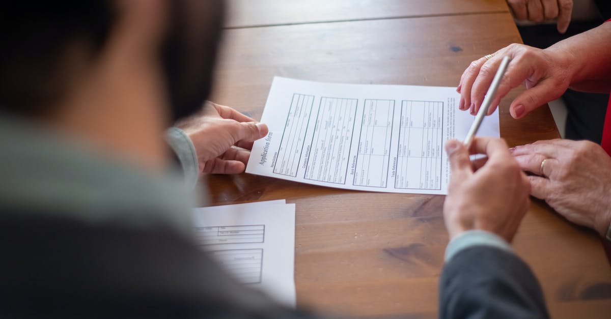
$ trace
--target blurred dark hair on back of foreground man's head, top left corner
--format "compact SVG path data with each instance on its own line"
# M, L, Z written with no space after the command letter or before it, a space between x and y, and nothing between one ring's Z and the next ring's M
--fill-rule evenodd
M114 20L111 1L0 1L0 111L38 113L59 100L68 45L85 43L95 56Z

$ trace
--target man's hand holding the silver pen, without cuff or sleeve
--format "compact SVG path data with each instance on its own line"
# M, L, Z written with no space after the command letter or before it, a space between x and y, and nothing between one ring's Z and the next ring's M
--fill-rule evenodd
M488 156L475 170L461 142L448 141L445 151L452 166L444 202L445 227L450 239L478 229L511 242L529 207L530 184L511 157L505 141L475 138L470 153Z

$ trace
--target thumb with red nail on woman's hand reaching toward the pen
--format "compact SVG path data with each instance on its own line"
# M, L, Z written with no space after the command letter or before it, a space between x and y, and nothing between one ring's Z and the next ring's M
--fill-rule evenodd
M514 119L521 119L539 106L557 99L560 95L562 92L558 92L551 79L544 79L518 95L511 102L509 112Z

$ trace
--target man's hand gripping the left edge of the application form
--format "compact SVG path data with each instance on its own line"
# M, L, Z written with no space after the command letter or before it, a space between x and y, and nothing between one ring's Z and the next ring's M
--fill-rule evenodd
M195 116L176 123L191 138L200 172L240 174L246 169L255 140L268 133L267 125L227 106L206 102Z

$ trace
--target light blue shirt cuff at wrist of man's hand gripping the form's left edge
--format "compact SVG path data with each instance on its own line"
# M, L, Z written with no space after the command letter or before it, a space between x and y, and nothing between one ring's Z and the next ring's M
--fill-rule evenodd
M166 131L167 143L180 160L180 166L185 175L185 185L189 189L194 189L199 178L199 162L195 146L189 136L180 128L172 127Z

